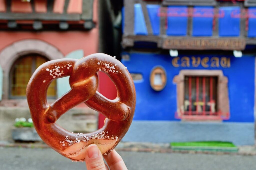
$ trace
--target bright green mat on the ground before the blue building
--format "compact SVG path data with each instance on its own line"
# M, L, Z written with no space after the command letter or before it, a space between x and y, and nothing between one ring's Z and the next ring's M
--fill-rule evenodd
M171 148L176 151L238 152L232 142L221 141L171 142Z

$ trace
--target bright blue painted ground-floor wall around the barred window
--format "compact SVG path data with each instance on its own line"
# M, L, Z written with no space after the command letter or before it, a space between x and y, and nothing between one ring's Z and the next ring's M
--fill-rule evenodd
M130 53L130 60L122 60L130 73L141 73L143 80L135 81L136 87L136 110L134 120L168 120L180 121L175 119L177 110L176 84L173 78L183 69L209 69L222 70L228 77L229 101L230 101L230 119L228 122L254 122L254 74L255 58L253 56L243 56L235 58L234 56L224 56L231 59L230 68L204 68L200 64L198 67L192 67L191 56L190 67L174 67L172 65L173 57L162 54ZM206 55L194 55L204 58ZM223 57L223 55L207 55L211 57ZM182 58L183 56L179 56ZM180 62L179 62L180 64ZM153 67L161 65L167 72L166 87L156 92L150 86L150 73Z

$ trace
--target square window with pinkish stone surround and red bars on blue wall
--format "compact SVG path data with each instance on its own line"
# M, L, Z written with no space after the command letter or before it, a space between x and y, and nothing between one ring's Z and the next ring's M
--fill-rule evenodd
M228 78L221 70L182 70L177 84L177 112L183 120L227 120L230 117Z

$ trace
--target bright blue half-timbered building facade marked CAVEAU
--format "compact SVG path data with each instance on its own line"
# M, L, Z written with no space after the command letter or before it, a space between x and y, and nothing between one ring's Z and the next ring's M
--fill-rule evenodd
M123 140L253 145L254 10L243 26L240 14L252 8L241 2L139 2L127 0L123 10L122 62L137 95Z

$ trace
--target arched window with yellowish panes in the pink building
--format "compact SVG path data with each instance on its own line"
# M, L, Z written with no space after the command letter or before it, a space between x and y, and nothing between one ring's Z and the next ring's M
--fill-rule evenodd
M48 60L37 54L20 57L10 72L10 97L25 98L28 81L35 70ZM55 98L56 81L53 81L47 91L47 97Z

